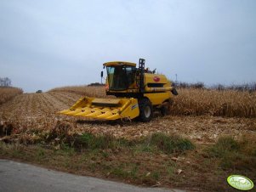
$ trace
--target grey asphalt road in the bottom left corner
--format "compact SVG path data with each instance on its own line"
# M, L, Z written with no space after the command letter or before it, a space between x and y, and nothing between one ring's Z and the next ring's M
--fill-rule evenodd
M141 188L99 178L56 172L29 164L0 159L0 192L59 192L59 191L173 191L179 189Z

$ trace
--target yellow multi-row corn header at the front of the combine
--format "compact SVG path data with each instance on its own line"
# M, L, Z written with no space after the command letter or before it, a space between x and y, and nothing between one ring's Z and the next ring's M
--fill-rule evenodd
M134 119L139 116L138 100L130 99L95 99L82 97L68 110L60 114L67 116L82 116L105 120L122 118Z

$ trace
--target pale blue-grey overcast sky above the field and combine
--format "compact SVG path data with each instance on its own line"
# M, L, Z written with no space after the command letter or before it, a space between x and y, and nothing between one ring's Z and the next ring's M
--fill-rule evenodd
M46 91L144 58L173 80L256 82L255 10L255 0L1 0L0 76Z

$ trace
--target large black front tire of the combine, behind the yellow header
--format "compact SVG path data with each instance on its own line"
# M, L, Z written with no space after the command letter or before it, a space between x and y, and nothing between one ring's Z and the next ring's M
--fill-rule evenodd
M148 122L153 118L153 106L149 99L139 101L139 121Z

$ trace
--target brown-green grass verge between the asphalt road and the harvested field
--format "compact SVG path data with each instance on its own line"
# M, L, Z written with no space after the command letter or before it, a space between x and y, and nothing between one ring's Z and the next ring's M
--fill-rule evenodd
M207 178L202 189L227 191L229 186L225 179L231 173L255 180L255 148L256 140L248 137L242 140L223 137L215 144L197 144L193 150L195 145L189 139L177 135L153 133L129 141L83 133L57 144L53 140L44 144L0 142L0 156L64 172L147 186L194 186ZM179 157L179 161L174 161L173 157ZM213 182L213 186L208 185L209 182Z

